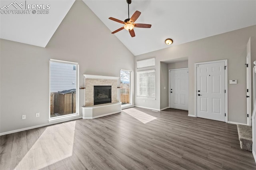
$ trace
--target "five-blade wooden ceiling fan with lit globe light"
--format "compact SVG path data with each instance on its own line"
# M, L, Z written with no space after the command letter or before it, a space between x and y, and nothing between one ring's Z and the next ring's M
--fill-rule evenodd
M141 12L140 11L135 11L134 14L132 15L132 17L130 18L129 16L129 4L132 3L132 0L126 0L127 4L128 4L128 18L124 21L118 20L116 18L110 17L108 19L113 20L115 22L119 22L121 24L124 24L123 27L117 29L116 31L112 32L112 34L115 34L116 32L119 32L123 29L126 29L127 31L129 31L130 35L132 37L135 37L135 32L133 30L134 27L137 28L151 28L151 24L135 24L134 22L139 18Z

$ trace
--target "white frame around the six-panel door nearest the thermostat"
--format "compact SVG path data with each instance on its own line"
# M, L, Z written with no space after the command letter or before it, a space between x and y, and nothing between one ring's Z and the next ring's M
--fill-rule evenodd
M228 60L223 59L223 60L216 60L216 61L207 61L207 62L200 62L200 63L194 63L194 100L195 100L195 117L197 117L197 93L196 93L196 87L197 87L197 65L200 64L210 64L210 63L220 63L224 62L225 63L225 122L228 123Z

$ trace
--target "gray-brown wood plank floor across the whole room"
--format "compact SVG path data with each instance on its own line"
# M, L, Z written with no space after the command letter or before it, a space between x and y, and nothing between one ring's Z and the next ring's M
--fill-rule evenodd
M157 119L144 124L126 113L132 109ZM0 169L256 169L236 125L132 109L0 136Z

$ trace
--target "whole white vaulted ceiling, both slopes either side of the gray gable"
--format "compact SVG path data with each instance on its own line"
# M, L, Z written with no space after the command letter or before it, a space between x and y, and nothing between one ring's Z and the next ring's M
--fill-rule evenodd
M126 0L83 1L110 29L109 34L123 26L109 17L128 18ZM10 1L0 1L0 7L6 2ZM29 17L0 14L0 38L45 47L74 0L27 2L50 4L54 10L48 15ZM152 24L152 27L134 28L134 38L126 30L113 35L134 55L256 25L256 0L132 0L130 16L136 10L142 12L136 23ZM166 45L166 38L172 38L174 43Z

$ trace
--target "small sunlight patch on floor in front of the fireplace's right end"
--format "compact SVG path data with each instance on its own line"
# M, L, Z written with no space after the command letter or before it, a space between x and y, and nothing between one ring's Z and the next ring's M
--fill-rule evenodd
M148 115L142 111L138 111L137 109L134 109L134 108L125 109L123 110L123 112L134 117L135 119L137 119L138 121L141 121L144 124L157 119L156 117Z

